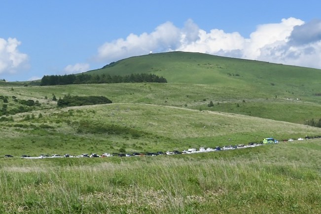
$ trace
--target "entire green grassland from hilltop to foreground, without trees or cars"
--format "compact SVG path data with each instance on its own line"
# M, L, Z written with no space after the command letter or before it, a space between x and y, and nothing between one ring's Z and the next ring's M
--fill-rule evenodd
M320 70L170 52L88 71L133 72L168 83L0 81L0 213L321 213L321 138L155 157L20 158L321 136L305 125L320 118ZM53 97L65 95L112 104L57 107Z

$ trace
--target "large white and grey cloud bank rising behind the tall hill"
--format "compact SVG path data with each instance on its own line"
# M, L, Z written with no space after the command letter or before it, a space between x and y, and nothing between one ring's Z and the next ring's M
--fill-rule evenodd
M305 23L290 17L257 26L249 38L220 29L206 32L192 20L181 29L166 22L151 33L130 34L104 43L96 58L108 63L150 51L201 52L321 69L321 20Z

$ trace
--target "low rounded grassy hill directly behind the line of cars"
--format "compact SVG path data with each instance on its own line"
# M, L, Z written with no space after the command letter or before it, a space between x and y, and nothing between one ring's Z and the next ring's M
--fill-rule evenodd
M33 111L0 126L2 152L14 155L182 150L321 135L320 128L300 124L146 104Z

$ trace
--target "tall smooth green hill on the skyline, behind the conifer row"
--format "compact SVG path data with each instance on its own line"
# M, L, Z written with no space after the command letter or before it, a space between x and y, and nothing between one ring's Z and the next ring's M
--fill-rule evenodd
M169 83L229 86L298 99L321 93L320 69L180 51L130 57L85 73L153 73L164 76ZM320 100L320 96L315 98Z

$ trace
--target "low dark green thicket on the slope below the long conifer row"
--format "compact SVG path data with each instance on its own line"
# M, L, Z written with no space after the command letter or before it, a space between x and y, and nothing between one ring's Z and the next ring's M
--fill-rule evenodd
M65 95L63 99L59 98L57 102L58 107L71 107L71 106L87 106L96 104L110 104L112 103L107 97L104 96L71 96Z

